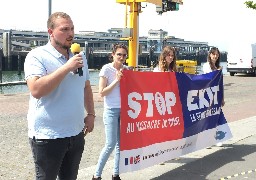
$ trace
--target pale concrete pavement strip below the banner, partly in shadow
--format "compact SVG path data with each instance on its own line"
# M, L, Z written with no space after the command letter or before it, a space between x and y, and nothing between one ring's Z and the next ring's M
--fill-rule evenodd
M233 138L223 147L212 146L164 165L121 174L122 180L217 180L256 179L256 116L229 123ZM107 162L102 179L111 178L113 160ZM78 180L90 180L96 165L80 169Z

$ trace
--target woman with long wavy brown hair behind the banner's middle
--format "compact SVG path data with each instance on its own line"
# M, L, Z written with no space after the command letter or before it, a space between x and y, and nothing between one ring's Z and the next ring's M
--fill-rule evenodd
M171 46L165 46L159 56L158 64L153 72L176 72L177 56L175 49Z

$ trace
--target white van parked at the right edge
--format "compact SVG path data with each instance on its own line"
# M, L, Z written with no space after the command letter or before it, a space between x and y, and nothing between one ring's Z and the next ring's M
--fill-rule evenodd
M227 57L227 72L230 76L236 73L256 76L256 44L236 44L230 48Z

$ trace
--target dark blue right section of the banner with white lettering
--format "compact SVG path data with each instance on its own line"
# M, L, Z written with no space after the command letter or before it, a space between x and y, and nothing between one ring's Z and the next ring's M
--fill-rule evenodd
M184 118L183 137L227 123L221 109L223 75L213 71L202 75L176 73Z

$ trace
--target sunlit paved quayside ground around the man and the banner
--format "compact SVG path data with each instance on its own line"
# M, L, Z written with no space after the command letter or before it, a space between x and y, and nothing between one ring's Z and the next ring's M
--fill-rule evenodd
M256 156L253 156L256 152L255 79L256 77L244 75L224 77L226 105L223 112L231 127L234 126L231 129L234 138L231 142L227 142L225 147L213 147L195 154L191 153L179 161L170 161L163 166L157 165L146 170L126 173L122 177L138 180L212 180L255 169L256 165L252 163L256 159ZM95 87L93 89L97 92ZM86 137L86 150L80 165L79 179L91 178L105 141L102 124L103 103L98 101L97 93L94 94L94 98L97 114L96 126L94 132ZM34 179L34 165L27 138L27 108L27 93L0 95L0 179ZM112 157L108 164L103 174L106 179L110 177ZM227 167L227 169L220 170L221 167ZM254 172L247 175L256 177ZM237 179L242 179L245 175L239 177L241 178Z

